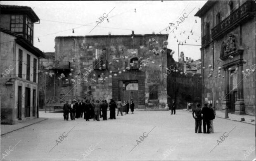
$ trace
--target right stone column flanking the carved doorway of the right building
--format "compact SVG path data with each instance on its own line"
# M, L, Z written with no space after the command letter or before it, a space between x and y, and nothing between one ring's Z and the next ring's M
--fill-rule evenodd
M238 77L237 77L237 101L235 102L235 114L243 115L244 111L244 81L243 81L243 64L242 62L237 64Z

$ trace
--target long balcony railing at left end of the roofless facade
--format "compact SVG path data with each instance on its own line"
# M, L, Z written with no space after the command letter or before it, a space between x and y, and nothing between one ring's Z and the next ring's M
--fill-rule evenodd
M50 70L70 69L70 62L48 61L48 62L40 62L40 64L43 65L45 69L50 69Z

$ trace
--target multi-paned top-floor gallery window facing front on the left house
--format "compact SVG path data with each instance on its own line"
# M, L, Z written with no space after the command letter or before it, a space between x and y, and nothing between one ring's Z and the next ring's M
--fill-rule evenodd
M11 16L11 31L22 33L23 32L23 15L12 15Z

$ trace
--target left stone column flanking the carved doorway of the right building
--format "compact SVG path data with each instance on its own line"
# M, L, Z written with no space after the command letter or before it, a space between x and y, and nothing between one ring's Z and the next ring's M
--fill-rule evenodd
M228 106L229 101L229 71L228 68L224 68L225 71L225 96L222 101L222 110L225 111L225 118L228 118Z

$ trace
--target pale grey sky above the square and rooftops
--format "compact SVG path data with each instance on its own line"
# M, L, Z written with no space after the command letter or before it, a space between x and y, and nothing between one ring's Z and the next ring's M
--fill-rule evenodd
M55 52L57 36L108 35L109 32L111 35L130 35L132 30L135 34L152 34L161 31L169 34L168 48L175 51L173 57L176 61L179 42L201 45L201 20L194 15L205 3L203 0L0 2L1 5L29 6L34 10L40 19L39 24L34 24L34 46L43 52ZM99 18L103 14L104 17L108 15L101 22ZM200 59L200 47L179 45L179 50L185 57L197 60Z

